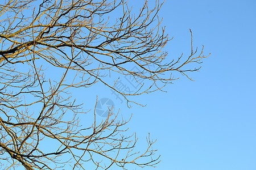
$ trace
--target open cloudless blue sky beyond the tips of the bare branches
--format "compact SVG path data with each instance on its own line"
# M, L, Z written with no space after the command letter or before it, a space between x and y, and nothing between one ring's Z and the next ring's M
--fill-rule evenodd
M112 99L123 115L133 113L130 132L137 132L139 147L148 132L158 140L154 148L162 162L156 169L256 169L255 7L253 0L167 0L159 16L174 36L166 46L169 56L189 55L189 28L194 45L211 53L201 70L190 74L195 82L181 76L167 93L136 99L146 107L131 109L111 91L98 91L99 99Z

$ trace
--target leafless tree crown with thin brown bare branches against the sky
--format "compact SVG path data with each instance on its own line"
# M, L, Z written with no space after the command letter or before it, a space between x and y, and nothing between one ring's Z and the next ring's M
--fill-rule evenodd
M126 135L129 120L109 108L108 117L86 125L85 114L72 90L105 84L122 95L127 106L134 95L161 90L177 79L189 78L189 63L199 54L167 57L170 40L160 26L163 3L150 8L145 1L132 13L129 3L107 0L6 0L0 5L0 153L3 169L109 169L127 164L139 167L159 162L151 141L146 151L135 147L137 137ZM117 15L118 14L118 15ZM191 33L192 37L192 33ZM148 66L154 67L148 67ZM137 66L139 71L131 71ZM53 70L56 75L49 73ZM118 75L145 79L135 93L115 87ZM190 79L190 78L189 78ZM96 101L97 104L97 101ZM89 125L90 124L90 125ZM88 126L89 125L89 126ZM45 143L54 143L47 150ZM92 168L92 169L93 169Z

